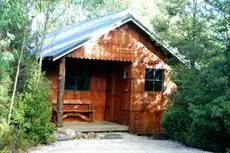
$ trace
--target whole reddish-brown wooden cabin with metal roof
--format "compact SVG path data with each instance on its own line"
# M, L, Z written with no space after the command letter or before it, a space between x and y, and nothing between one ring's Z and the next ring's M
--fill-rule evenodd
M109 121L137 134L161 132L176 89L166 60L181 58L136 15L121 11L64 26L46 36L43 51L58 126Z

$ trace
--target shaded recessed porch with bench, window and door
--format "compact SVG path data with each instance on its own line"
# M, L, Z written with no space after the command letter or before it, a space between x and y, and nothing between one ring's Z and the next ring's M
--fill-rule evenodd
M101 131L101 127L99 129L97 127L102 126L108 131L127 131L126 126L117 130L117 126L114 125L129 125L131 64L123 61L65 58L63 66L65 75L62 76L64 82L61 82L59 80L61 77L57 77L60 69L55 68L55 64L47 63L47 71L50 73L48 76L53 80L52 121L58 121L59 99L62 101L59 106L59 109L61 107L59 119L63 120L63 126L72 128L74 124L74 127L79 126L81 130L82 125L87 125L96 128L95 131ZM82 121L93 123L81 123Z

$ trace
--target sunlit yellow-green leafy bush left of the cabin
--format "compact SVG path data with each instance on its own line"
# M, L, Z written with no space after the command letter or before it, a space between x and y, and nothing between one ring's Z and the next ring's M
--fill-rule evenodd
M26 70L26 74L20 77L26 76L26 79L20 79L24 86L17 93L12 123L10 126L5 121L0 124L0 149L5 152L54 141L49 82L43 74L38 77L35 58L26 58L24 64L27 66L22 71Z

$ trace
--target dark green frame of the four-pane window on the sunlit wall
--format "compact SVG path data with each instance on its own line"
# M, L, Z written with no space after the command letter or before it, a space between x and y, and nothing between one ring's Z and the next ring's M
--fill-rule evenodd
M156 79L157 77L153 74L153 79L147 79L146 78L146 73L147 73L147 71L148 71L148 69L151 69L153 72L152 73L154 73L154 71L156 72L156 71L161 71L161 76L162 76L162 78L159 80L159 79ZM146 68L145 69L145 83L144 83L144 91L145 92L163 92L164 91L164 77L165 77L165 75L164 75L164 69L156 69L156 68ZM146 82L147 81L149 81L149 82L152 82L152 90L147 90L146 89ZM155 86L155 83L156 82L161 82L161 90L156 90L156 88L154 87Z

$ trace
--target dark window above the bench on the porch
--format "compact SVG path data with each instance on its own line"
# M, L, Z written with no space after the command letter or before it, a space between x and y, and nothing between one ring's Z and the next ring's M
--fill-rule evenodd
M68 65L66 70L65 90L89 91L91 72L87 66Z

